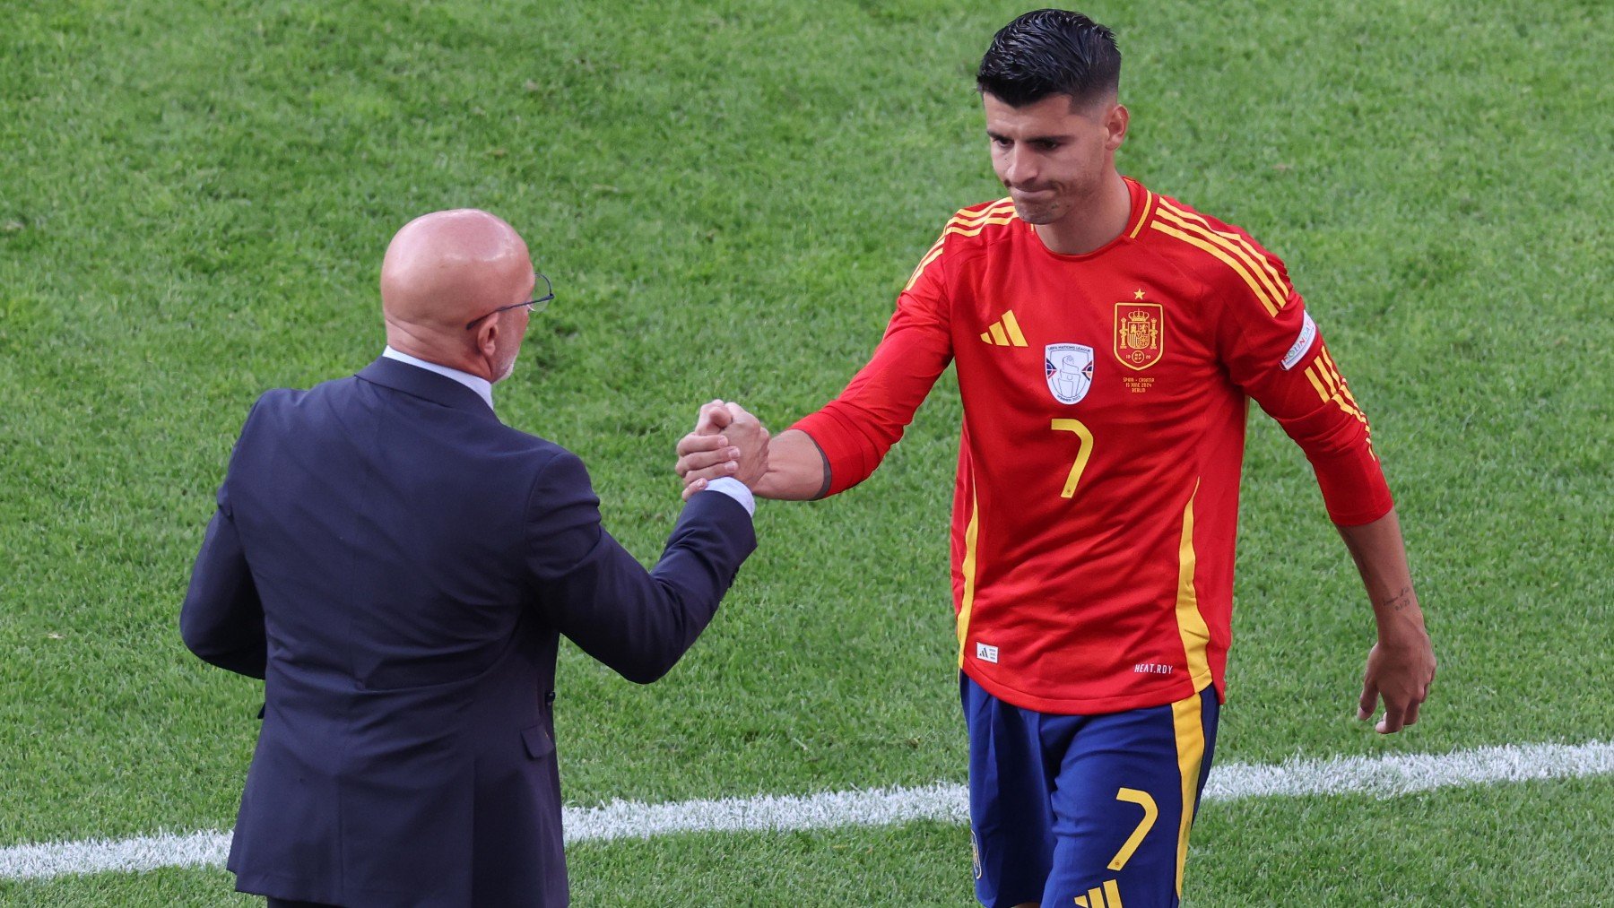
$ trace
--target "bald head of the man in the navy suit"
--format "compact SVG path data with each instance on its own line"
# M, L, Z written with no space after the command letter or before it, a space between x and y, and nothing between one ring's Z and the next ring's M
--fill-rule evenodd
M529 300L533 281L526 244L500 218L475 208L415 218L381 263L387 344L499 381L515 363L528 316L520 308L489 313ZM473 319L483 321L466 329Z

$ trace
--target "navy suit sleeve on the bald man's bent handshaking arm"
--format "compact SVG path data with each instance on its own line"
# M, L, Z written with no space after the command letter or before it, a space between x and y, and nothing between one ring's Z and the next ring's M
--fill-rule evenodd
M567 452L539 473L526 518L539 610L583 652L639 684L678 663L757 547L739 502L699 492L684 505L660 561L646 571L600 526L587 471Z

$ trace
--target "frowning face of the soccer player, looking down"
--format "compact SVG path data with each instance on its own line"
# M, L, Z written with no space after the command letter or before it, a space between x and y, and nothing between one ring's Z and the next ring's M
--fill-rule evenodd
M1009 187L1015 215L1052 224L1088 213L1115 169L1127 108L1114 98L1072 105L1070 95L1012 106L988 92L981 103L993 169Z

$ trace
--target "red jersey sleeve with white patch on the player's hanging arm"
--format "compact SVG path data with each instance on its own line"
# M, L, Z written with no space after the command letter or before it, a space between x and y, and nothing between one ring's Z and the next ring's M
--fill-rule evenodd
M1243 266L1222 273L1217 347L1228 376L1306 452L1328 516L1372 523L1393 506L1372 427L1277 256L1230 229Z

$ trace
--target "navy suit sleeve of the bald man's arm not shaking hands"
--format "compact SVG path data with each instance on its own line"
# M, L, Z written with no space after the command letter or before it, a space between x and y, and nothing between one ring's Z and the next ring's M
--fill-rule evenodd
M250 423L252 416L247 419ZM236 532L228 474L218 487L218 510L190 569L190 589L179 608L179 635L202 660L237 674L263 677L268 661L263 603Z

